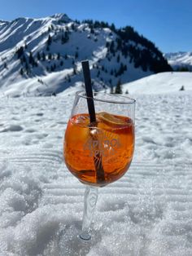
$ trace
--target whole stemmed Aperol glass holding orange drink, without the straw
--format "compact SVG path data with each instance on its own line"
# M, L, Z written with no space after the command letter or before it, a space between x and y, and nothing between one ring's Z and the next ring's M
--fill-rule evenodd
M84 91L76 92L64 136L63 157L68 170L85 183L80 238L90 239L90 224L98 188L120 179L129 169L134 150L135 100L123 95L94 93L96 121L90 123Z

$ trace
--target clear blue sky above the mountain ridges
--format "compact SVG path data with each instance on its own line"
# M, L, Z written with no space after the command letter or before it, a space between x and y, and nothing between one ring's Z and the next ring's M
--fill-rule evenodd
M0 20L66 13L131 25L160 51L192 51L192 0L0 0Z

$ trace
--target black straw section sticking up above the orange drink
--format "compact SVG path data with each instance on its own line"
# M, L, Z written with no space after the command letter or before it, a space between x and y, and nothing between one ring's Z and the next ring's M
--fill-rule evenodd
M93 99L93 90L91 86L91 80L90 80L90 70L89 70L89 60L83 60L81 61L82 68L83 68L83 75L85 80L85 90L87 95L87 105L89 110L89 116L90 116L90 123L96 121L95 117L95 109L94 109L94 99Z

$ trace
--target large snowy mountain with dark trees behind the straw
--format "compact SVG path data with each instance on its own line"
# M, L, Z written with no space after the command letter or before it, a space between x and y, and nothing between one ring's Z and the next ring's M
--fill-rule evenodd
M80 86L85 59L95 90L171 70L155 45L132 27L78 22L65 14L1 20L0 58L0 90L11 96L51 95Z

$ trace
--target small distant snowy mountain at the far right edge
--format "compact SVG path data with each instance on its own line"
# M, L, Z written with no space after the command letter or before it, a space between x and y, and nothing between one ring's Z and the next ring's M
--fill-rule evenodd
M168 60L168 64L170 64L173 69L188 68L189 71L192 70L192 52L170 52L164 54L164 57Z

